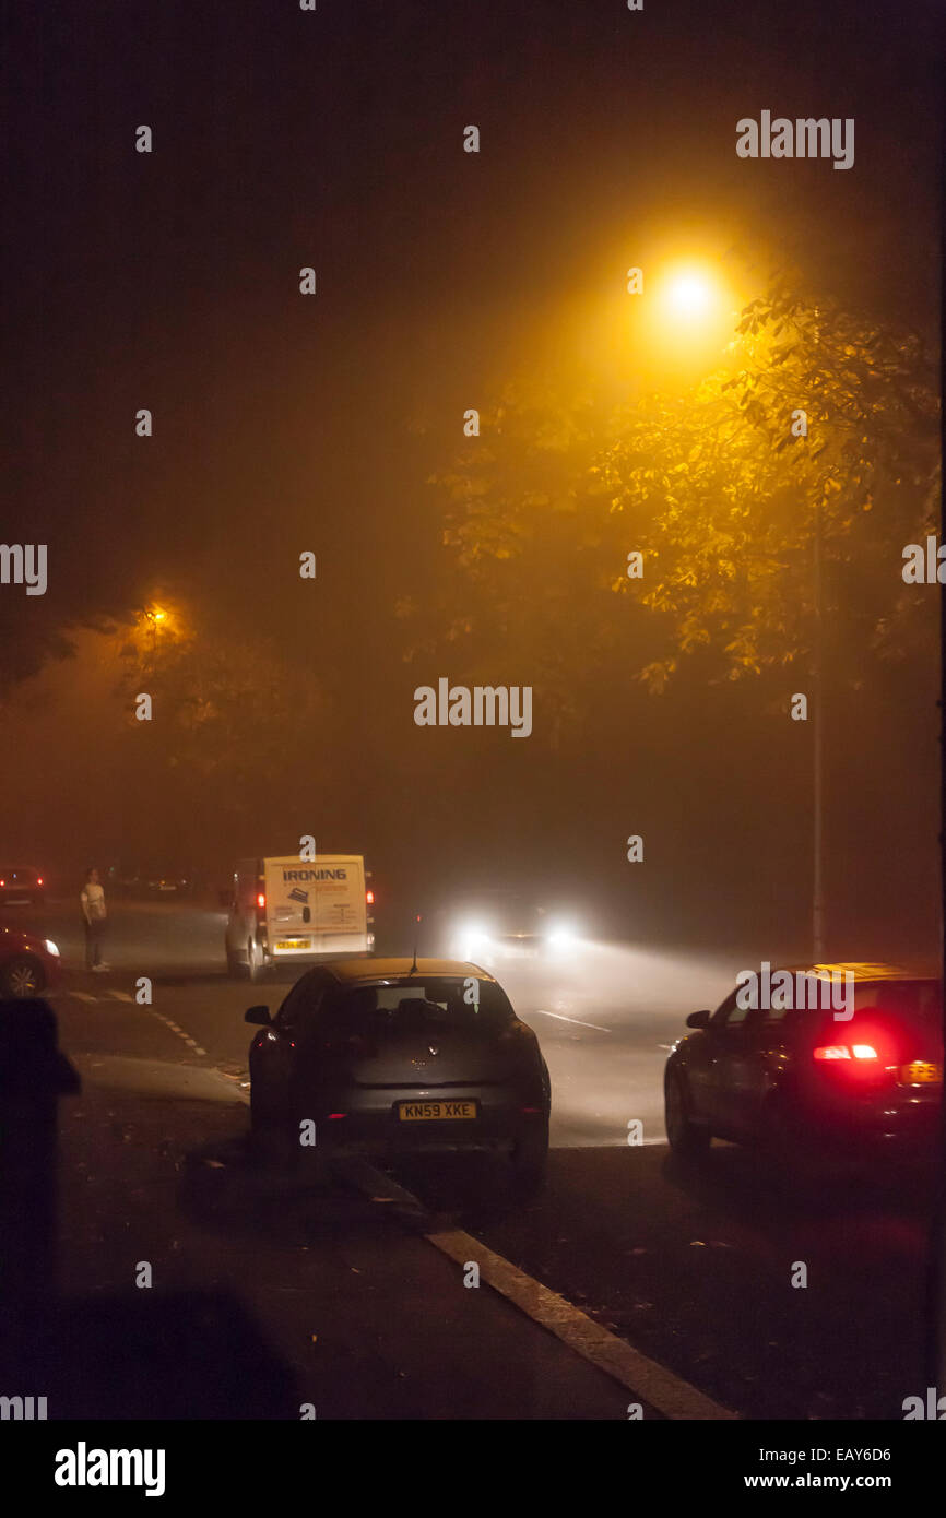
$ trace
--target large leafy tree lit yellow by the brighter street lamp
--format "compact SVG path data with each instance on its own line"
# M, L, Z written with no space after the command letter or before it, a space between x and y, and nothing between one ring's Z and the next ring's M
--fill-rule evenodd
M917 334L815 304L793 276L744 310L726 367L686 393L606 410L519 387L478 449L434 477L449 493L443 542L475 592L446 636L492 622L542 650L566 616L548 669L563 712L582 666L615 648L654 692L697 651L712 679L805 663L818 518L826 613L843 606L888 657L928 636L900 568L903 545L935 530L932 360ZM632 550L641 580L624 571Z

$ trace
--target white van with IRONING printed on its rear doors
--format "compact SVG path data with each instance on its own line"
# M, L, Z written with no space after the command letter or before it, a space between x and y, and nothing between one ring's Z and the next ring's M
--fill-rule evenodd
M226 968L257 981L287 959L371 953L374 893L361 855L241 859L226 923Z

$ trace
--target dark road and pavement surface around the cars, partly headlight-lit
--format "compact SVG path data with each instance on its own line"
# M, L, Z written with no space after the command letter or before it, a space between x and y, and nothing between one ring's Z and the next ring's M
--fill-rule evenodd
M44 932L82 1079L59 1114L62 1305L35 1348L59 1416L902 1418L923 1390L919 1181L796 1193L735 1146L667 1149L667 1046L733 955L509 965L553 1081L548 1181L510 1211L480 1163L307 1190L249 1166L243 1011L289 981L229 982L222 914L118 903L105 975L71 906Z

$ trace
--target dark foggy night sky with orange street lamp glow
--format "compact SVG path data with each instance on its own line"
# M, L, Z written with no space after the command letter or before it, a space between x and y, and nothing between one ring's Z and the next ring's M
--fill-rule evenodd
M428 481L465 408L524 366L638 380L645 360L613 342L595 357L595 334L626 269L668 249L784 252L812 291L935 345L938 12L9 6L2 536L47 543L50 581L35 598L0 586L5 847L70 885L96 858L225 874L314 832L369 856L392 914L495 876L630 938L803 943L808 735L771 715L762 682L686 676L650 697L620 660L589 663L583 715L553 747L541 683L509 648L492 682L534 685L528 741L415 726L415 686L475 665L437 647L445 591L456 610L471 592ZM853 117L855 165L739 159L736 121L762 109ZM114 695L114 628L155 598L208 647L255 642L323 697L325 720L289 739L292 779L267 764L235 780L220 756L219 806L197 806L187 776L156 779L143 744L162 742L159 723L129 733ZM404 598L434 651L408 659ZM838 628L835 659L861 656ZM928 659L838 682L838 956L935 947L937 683L932 619ZM269 695L260 682L261 724ZM636 874L629 833L647 839Z

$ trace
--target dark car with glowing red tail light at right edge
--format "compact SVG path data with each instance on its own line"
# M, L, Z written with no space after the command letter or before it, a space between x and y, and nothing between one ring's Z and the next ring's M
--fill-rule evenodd
M736 990L715 1013L686 1019L694 1032L674 1044L664 1076L670 1146L695 1154L729 1138L790 1166L932 1152L943 1093L940 982L875 964L793 965L790 975L790 1008L741 1006L747 997ZM853 1002L840 1017L832 975L835 987L853 976Z

